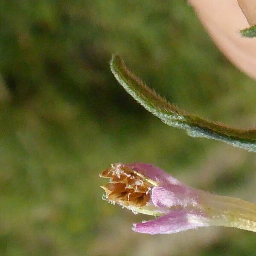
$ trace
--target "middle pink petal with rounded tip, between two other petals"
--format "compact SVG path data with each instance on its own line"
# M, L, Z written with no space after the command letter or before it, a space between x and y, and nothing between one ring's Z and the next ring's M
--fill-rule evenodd
M185 206L197 204L197 193L196 190L186 186L169 184L154 187L151 192L151 200L157 207Z

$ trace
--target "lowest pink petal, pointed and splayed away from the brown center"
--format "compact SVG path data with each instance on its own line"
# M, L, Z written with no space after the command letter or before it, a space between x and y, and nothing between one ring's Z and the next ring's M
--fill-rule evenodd
M135 223L133 230L146 234L171 234L196 227L206 227L206 222L200 222L200 215L188 213L185 210L174 210L173 212L152 221Z

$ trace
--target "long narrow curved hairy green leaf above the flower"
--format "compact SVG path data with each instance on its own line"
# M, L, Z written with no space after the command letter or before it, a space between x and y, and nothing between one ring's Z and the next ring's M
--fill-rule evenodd
M112 56L110 66L122 87L145 109L167 125L184 129L192 137L220 140L235 147L256 152L256 129L236 129L180 110L157 95L140 78L134 76L117 54Z

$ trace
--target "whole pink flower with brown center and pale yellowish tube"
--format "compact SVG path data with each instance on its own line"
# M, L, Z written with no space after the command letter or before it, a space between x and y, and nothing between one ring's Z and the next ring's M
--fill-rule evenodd
M186 186L151 164L115 163L100 177L110 179L102 186L110 203L158 217L134 224L136 232L169 234L213 225L256 232L256 205Z

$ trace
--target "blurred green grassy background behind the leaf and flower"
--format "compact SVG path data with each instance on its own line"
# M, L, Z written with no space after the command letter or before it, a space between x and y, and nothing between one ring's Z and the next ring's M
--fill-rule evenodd
M255 255L254 233L137 234L132 223L150 217L102 201L99 172L140 161L256 203L255 155L164 125L113 78L114 52L180 108L255 124L255 81L186 0L2 0L0 255Z

